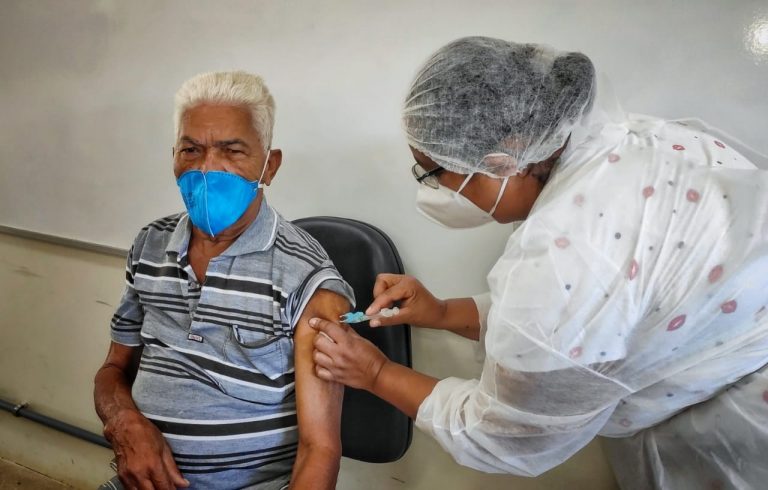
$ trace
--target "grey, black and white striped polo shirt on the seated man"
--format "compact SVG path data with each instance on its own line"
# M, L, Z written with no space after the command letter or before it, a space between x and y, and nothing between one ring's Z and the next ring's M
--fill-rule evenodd
M293 332L318 288L354 304L307 232L266 200L200 284L187 213L143 228L128 254L114 342L143 346L133 399L192 488L280 488L297 449Z

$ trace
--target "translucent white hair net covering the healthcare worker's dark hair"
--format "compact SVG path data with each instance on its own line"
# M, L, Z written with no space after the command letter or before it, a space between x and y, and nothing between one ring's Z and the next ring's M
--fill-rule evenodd
M581 53L467 37L419 71L403 122L409 144L447 170L514 175L565 144L594 87Z

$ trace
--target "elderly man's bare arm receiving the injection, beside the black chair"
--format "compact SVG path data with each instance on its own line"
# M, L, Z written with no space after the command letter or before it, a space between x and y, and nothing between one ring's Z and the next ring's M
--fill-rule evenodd
M333 489L341 459L341 404L344 387L315 375L312 350L318 334L309 319L338 318L349 311L339 294L318 289L296 326L294 334L296 410L299 448L291 476L292 489Z

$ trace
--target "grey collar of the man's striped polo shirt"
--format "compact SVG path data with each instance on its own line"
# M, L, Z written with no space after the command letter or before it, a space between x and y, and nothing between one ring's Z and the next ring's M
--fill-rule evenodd
M262 200L256 219L221 255L237 256L268 250L275 242L277 221L275 210L267 204L266 199ZM173 230L165 251L174 252L179 257L186 255L191 233L192 224L189 221L189 215L184 213L176 225L176 229Z

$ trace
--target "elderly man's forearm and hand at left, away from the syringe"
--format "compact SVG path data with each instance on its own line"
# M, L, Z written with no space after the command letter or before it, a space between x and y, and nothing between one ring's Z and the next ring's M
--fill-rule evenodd
M117 471L127 488L172 490L187 487L163 435L147 420L131 397L141 347L112 342L96 373L93 398L104 423L104 437L117 457Z

